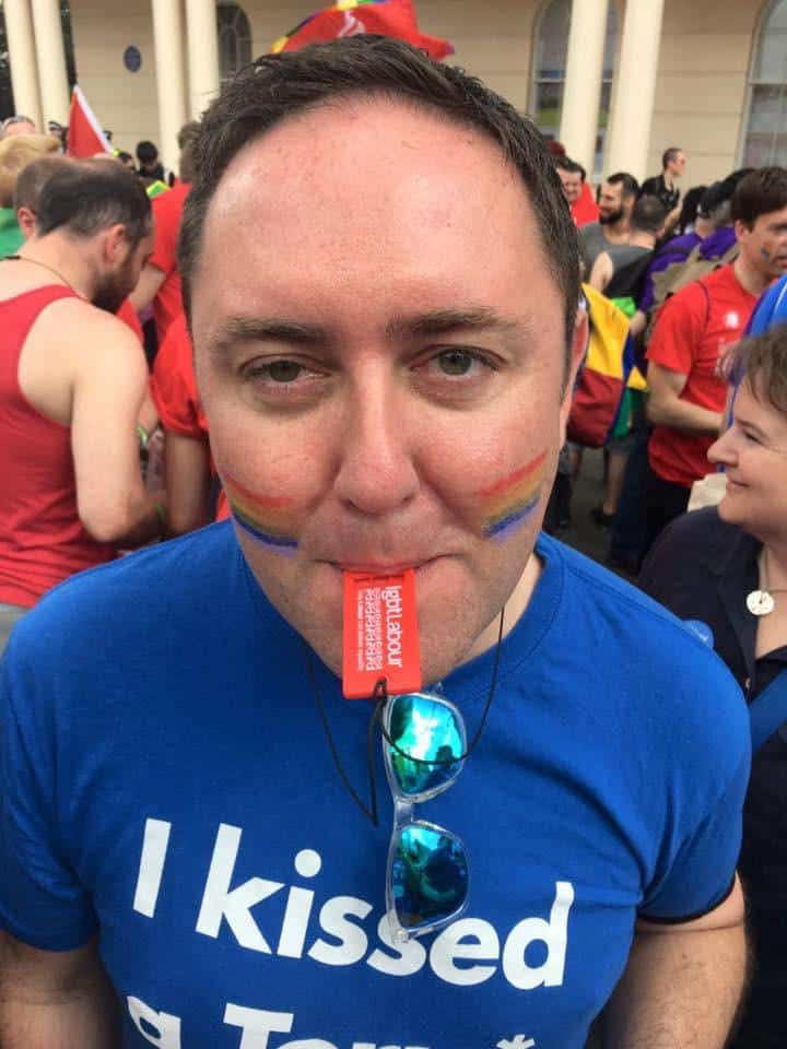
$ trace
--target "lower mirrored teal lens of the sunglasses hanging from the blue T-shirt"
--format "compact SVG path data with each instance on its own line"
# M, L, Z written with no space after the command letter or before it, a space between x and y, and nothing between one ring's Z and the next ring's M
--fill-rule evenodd
M455 835L425 823L399 832L389 885L402 929L416 932L458 914L467 900L468 879L465 847Z

